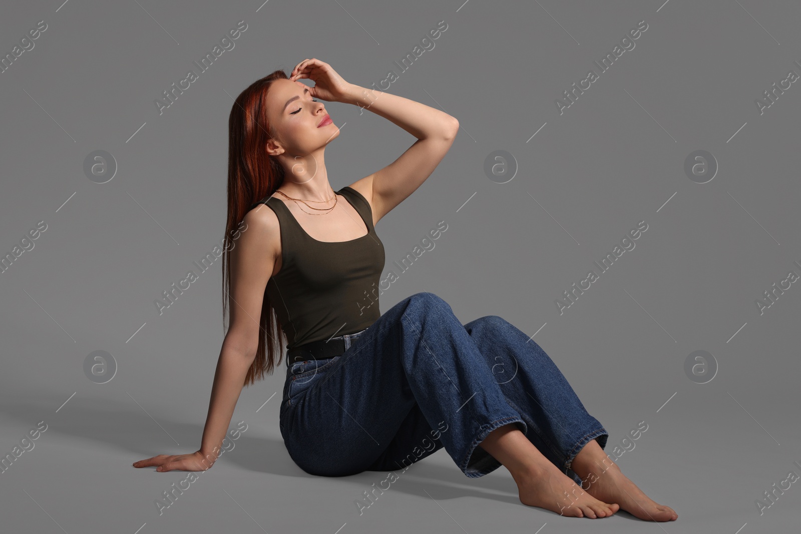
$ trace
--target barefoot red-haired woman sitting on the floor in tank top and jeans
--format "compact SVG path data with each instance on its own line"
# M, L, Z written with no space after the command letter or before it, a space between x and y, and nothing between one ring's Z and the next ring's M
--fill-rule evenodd
M370 110L417 141L335 192L324 151L340 130L320 100ZM228 303L231 326L203 440L191 454L135 467L210 468L242 387L272 374L288 341L280 430L305 472L392 471L445 448L471 478L502 464L529 506L590 518L621 508L642 520L678 517L604 454L606 430L517 327L497 315L461 324L428 292L380 315L384 247L374 226L445 157L455 118L345 82L312 58L242 91L228 126L223 317Z

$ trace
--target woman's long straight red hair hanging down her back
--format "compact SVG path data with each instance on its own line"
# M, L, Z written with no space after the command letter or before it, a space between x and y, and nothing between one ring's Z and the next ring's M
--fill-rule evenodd
M284 183L284 167L268 155L267 142L276 130L267 118L267 91L276 79L288 79L275 70L239 93L228 115L228 215L223 251L223 331L227 331L227 304L231 292L231 249L239 237L238 228L253 203L272 195ZM247 229L246 229L247 230ZM235 237L234 237L235 235ZM232 299L231 299L232 300ZM237 305L231 303L232 306ZM280 365L287 337L279 327L275 310L264 291L259 318L259 346L245 376L244 386L272 375ZM276 362L277 359L277 362Z

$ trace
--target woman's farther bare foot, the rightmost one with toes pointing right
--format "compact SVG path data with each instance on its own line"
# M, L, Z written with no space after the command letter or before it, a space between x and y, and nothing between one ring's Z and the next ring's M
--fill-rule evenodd
M596 474L600 473L600 474ZM675 521L678 514L670 506L657 504L650 500L634 482L624 475L618 464L611 464L602 471L599 467L583 477L585 483L590 485L586 492L598 500L608 503L617 503L622 510L632 516L646 521Z

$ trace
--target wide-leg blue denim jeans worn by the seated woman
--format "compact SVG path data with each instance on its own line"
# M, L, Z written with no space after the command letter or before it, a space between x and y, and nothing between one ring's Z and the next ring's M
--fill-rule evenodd
M497 315L462 324L433 293L410 296L345 340L343 355L292 363L280 430L318 476L408 468L445 448L465 476L501 466L478 447L516 424L577 484L570 463L608 432L537 343Z

